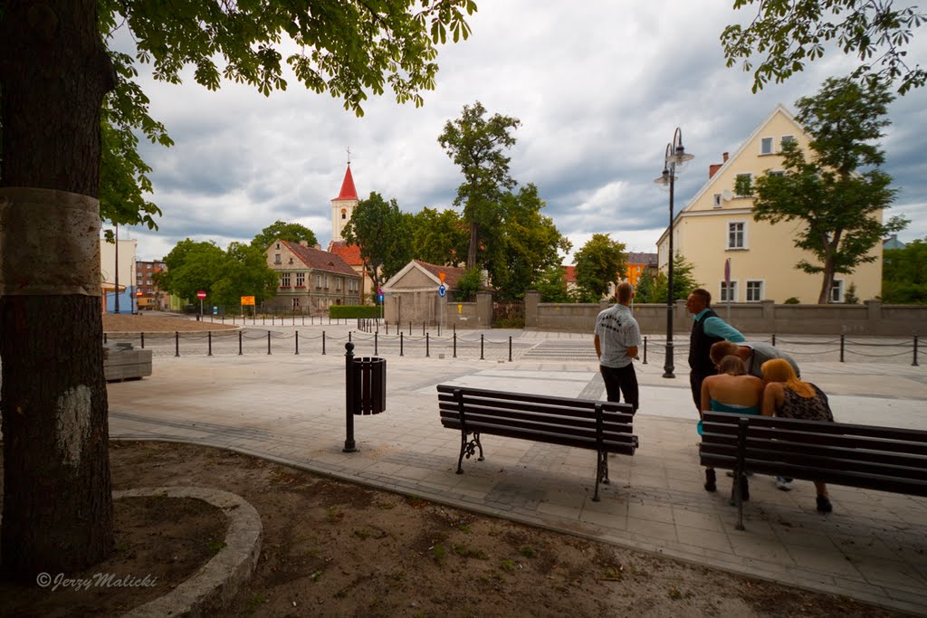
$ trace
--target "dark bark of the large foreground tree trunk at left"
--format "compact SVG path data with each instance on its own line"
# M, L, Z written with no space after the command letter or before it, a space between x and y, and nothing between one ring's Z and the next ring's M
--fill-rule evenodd
M0 186L95 198L100 107L114 85L96 2L8 0L4 8ZM98 238L98 223L68 234ZM0 244L24 241L12 236L5 232ZM68 255L60 263L67 274ZM37 268L17 278L29 282L39 274ZM54 577L101 561L113 547L103 326L99 296L64 286L57 294L19 296L7 285L5 294L0 551L7 575L34 582L38 573Z

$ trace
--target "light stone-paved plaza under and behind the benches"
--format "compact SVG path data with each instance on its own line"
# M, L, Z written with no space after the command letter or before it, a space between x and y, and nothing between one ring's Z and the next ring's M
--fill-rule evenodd
M355 417L360 450L344 453L345 358L337 336L349 327L339 329L330 327L324 356L156 352L150 377L109 385L110 435L232 448L454 507L927 613L927 498L831 486L834 511L821 515L811 483L796 481L786 493L757 476L746 530L735 529L730 479L722 476L715 494L702 488L684 352L675 379L662 377L662 356L637 365L641 446L634 457L609 458L612 483L593 502L589 450L488 435L486 460L464 460L464 474L456 474L460 435L441 426L435 389L604 398L590 334L487 332L497 340L513 336L513 361L503 348L482 360L440 359L438 351L399 357L395 347L381 348L387 411ZM912 366L909 356L847 363L832 354L795 357L803 377L828 393L835 420L927 429L927 368Z

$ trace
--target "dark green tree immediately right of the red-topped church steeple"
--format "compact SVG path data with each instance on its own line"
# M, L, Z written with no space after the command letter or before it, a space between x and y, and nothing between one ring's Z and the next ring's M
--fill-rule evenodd
M412 216L400 211L395 198L387 202L372 192L358 202L341 235L349 245L361 247L363 270L379 287L412 259L411 230Z

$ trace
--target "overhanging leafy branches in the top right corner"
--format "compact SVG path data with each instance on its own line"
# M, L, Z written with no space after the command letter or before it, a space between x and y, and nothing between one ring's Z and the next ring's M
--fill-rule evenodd
M734 0L734 8L756 7L746 26L721 34L729 67L754 71L753 91L770 80L784 82L824 56L827 46L859 58L853 78L861 82L900 81L904 95L927 80L921 65L908 66L908 46L925 14L918 6L869 0ZM760 59L756 60L755 57ZM756 69L754 67L756 66Z

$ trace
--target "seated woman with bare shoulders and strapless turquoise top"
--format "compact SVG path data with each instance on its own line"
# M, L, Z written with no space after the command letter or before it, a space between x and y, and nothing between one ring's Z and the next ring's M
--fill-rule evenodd
M743 359L733 355L721 359L717 374L709 375L702 382L702 410L734 412L735 414L759 414L763 397L763 381L747 374ZM702 433L699 421L698 432ZM705 469L705 491L717 489L714 468ZM741 478L743 499L750 498L746 477Z

